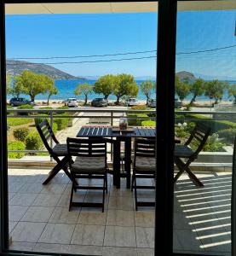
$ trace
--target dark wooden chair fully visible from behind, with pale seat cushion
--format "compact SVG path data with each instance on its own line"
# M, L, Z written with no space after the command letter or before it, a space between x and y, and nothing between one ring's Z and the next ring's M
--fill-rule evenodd
M67 138L69 166L72 174L72 193L69 211L72 207L101 207L104 212L105 191L107 193L106 139L104 138ZM73 161L72 158L75 157ZM92 174L92 175L91 175ZM81 186L76 179L103 179L103 186ZM73 193L77 189L102 190L102 203L74 202Z

